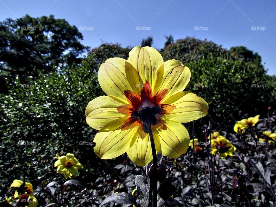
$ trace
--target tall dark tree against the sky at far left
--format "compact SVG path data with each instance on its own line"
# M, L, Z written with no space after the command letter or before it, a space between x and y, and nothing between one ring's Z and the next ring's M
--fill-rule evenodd
M80 63L87 47L80 43L82 34L76 26L53 15L0 22L0 75L38 76L62 66Z

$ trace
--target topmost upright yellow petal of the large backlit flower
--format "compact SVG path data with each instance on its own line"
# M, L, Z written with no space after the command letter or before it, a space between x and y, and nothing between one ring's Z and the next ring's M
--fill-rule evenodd
M127 62L138 72L138 74L134 75L135 78L132 78L139 81L136 84L143 85L145 81L149 81L152 88L155 88L155 85L160 83L156 74L157 70L162 68L164 61L162 55L153 47L134 47L129 53ZM135 83L133 80L130 79L129 82Z

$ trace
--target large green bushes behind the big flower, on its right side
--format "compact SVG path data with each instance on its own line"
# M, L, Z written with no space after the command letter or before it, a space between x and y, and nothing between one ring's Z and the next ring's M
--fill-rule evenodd
M276 106L276 77L265 73L257 54L250 53L255 59L241 58L248 50L234 55L215 43L195 38L178 40L161 52L165 60L176 59L190 68L191 81L185 90L209 104L209 115L200 120L196 131L209 120L214 128L230 129L240 111L266 114L269 106Z

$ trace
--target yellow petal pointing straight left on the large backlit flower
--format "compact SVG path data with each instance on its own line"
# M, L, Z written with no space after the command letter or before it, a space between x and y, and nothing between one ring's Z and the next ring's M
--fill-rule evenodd
M100 96L93 99L85 110L87 124L99 130L108 122L116 118L125 117L126 115L117 111L118 106L122 106L122 104L108 96Z

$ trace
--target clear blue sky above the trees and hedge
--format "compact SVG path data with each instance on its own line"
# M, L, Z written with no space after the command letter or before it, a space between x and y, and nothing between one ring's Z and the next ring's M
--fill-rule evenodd
M244 45L258 52L268 74L276 74L276 1L257 0L0 0L0 20L49 16L83 28L86 46L104 42L136 46L153 36L160 49L164 35L207 39L230 49Z

